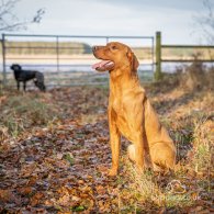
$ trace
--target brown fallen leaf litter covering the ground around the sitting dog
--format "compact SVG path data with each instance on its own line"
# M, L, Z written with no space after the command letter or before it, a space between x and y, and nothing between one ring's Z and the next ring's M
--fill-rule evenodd
M8 100L16 93L5 91L0 99L0 109L5 110ZM76 87L55 89L44 94L27 92L21 95L29 99L36 98L38 102L47 103L52 110L56 110L52 111L52 114L56 116L48 117L52 120L46 123L29 123L30 126L20 131L15 137L0 124L4 127L0 144L0 212L187 213L213 211L211 194L213 183L210 182L213 173L204 172L207 168L195 172L188 161L188 157L194 155L187 153L187 150L194 153L194 146L191 144L193 140L191 122L198 116L195 113L190 114L190 109L201 108L201 112L210 112L206 117L210 116L207 121L211 123L213 100L209 97L206 97L207 100L205 98L203 100L200 95L180 93L176 90L168 94L161 91L150 93L151 102L159 112L160 120L177 142L180 167L176 176L154 174L149 178L162 192L168 191L168 196L170 193L172 199L174 195L194 198L192 203L174 205L174 202L170 201L170 203L166 204L166 200L165 203L162 203L164 200L157 203L153 198L145 200L138 195L140 192L132 189L136 188L136 183L132 185L134 181L131 179L132 176L128 176L131 170L127 167L129 162L126 166L128 160L125 153L128 142L125 139L122 139L123 158L120 162L120 176L106 177L111 166L106 119L108 90ZM47 112L46 109L45 114ZM29 114L27 116L31 117ZM213 127L213 123L210 126Z

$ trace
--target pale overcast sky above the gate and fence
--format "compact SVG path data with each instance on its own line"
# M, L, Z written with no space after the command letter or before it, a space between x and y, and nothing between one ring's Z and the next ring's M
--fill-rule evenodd
M211 0L213 1L213 0ZM18 16L45 8L41 24L20 33L66 35L155 35L165 44L202 43L194 16L203 0L20 0Z

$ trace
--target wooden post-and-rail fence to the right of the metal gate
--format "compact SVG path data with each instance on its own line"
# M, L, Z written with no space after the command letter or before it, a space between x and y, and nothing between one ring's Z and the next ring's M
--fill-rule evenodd
M166 45L161 42L161 32L156 32L156 71L155 79L161 78L162 71L174 72L184 69L192 63L201 63L206 67L214 66L213 45Z

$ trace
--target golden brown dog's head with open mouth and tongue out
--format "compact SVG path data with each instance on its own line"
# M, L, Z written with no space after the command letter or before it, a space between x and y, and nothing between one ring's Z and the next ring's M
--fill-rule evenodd
M94 46L93 55L102 61L94 64L93 69L98 71L112 71L114 69L129 67L129 70L136 72L139 63L132 49L122 43L112 42L105 46Z

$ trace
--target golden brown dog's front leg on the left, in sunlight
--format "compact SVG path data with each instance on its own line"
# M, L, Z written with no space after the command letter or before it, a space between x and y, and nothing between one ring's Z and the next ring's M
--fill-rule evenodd
M110 145L112 150L112 168L109 176L116 176L119 171L119 157L121 149L121 135L115 123L115 113L109 108L109 127L110 127Z

